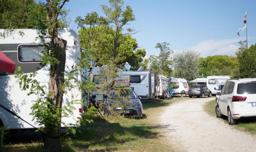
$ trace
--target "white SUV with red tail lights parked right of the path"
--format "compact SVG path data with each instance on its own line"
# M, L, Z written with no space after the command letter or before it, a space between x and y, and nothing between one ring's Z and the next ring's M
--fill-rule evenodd
M223 86L215 112L218 118L228 117L228 124L237 119L256 119L256 78L231 79Z

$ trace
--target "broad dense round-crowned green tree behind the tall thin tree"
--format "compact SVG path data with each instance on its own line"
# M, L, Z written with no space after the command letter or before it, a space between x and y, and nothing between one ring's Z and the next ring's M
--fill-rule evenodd
M95 28L94 30L96 30ZM91 42L87 33L90 33L90 28L83 28L78 31L80 38L80 46L83 48L90 48ZM93 49L89 49L89 54L95 57L97 66L105 65L113 54L114 47L114 30L108 26L99 27L97 35L94 37ZM95 32L96 33L96 32ZM115 64L117 67L122 68L125 62L129 62L133 69L137 69L139 64L143 61L146 55L145 49L137 49L138 44L135 38L131 35L121 35L119 37L120 45L117 47Z

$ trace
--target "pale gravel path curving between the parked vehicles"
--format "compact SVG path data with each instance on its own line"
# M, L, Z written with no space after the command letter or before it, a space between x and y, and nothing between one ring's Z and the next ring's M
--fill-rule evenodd
M203 111L203 104L213 98L192 98L170 105L161 123L184 151L256 151L256 137L238 131Z

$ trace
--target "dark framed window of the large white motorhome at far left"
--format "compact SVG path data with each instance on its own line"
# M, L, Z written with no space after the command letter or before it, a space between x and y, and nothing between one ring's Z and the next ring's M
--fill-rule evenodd
M20 45L18 59L20 62L40 62L43 51L46 51L43 45Z

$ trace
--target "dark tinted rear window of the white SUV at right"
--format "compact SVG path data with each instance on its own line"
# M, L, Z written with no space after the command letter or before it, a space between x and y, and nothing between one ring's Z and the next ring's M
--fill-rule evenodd
M256 82L239 83L237 94L256 94Z

